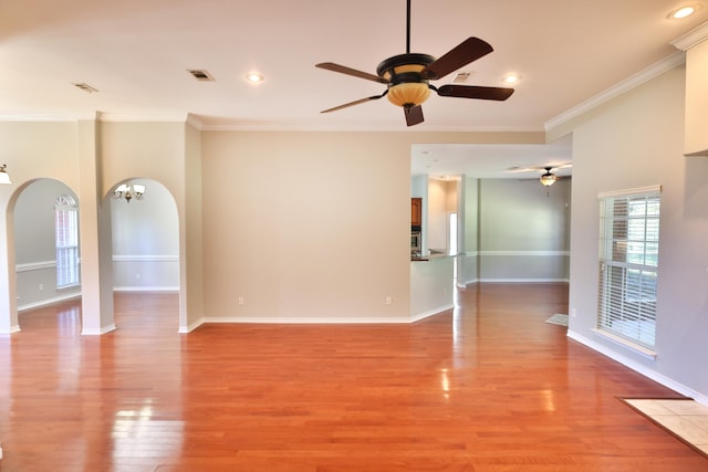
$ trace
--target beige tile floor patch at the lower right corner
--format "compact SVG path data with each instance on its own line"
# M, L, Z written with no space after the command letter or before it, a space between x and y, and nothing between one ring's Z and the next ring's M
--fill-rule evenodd
M690 399L624 401L708 455L708 406Z

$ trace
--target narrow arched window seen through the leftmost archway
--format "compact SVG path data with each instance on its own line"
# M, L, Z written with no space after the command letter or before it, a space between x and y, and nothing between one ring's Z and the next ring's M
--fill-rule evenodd
M56 245L56 287L79 285L79 211L67 195L54 204L54 243Z

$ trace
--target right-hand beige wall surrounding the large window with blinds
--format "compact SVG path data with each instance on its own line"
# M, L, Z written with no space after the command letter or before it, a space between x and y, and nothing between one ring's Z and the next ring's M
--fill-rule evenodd
M684 93L679 66L575 123L569 336L708 403L708 159L683 155ZM655 185L663 190L653 359L595 326L597 195Z

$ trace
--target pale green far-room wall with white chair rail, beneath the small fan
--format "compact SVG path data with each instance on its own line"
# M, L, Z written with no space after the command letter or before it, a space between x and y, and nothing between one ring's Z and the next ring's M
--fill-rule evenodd
M464 182L464 283L568 281L570 178L550 188L535 178Z

